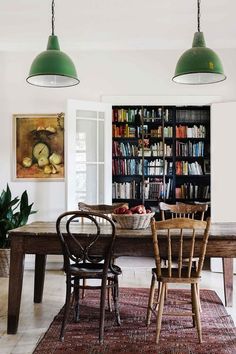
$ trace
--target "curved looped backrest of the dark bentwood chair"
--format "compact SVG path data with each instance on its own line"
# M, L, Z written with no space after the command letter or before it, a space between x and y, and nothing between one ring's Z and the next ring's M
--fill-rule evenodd
M101 226L97 217L110 225L108 232L110 237L107 237L107 242L102 245L99 243ZM108 216L77 210L68 211L58 217L56 229L61 241L65 272L70 270L71 261L75 264L104 262L107 267L109 266L116 229L114 222Z

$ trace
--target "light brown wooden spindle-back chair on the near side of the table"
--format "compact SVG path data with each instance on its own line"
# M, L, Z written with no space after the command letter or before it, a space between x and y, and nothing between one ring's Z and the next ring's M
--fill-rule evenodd
M166 286L170 283L177 284L190 284L191 286L191 302L192 311L188 312L178 312L177 315L180 316L192 316L193 325L197 327L199 342L202 342L202 330L201 330L201 320L200 320L200 307L198 298L198 285L200 282L201 271L204 263L206 246L209 236L210 229L210 218L207 221L193 220L187 218L176 218L164 221L155 221L152 218L151 221L152 236L153 236L153 247L156 267L152 269L152 280L149 293L148 309L147 309L147 325L150 324L151 312L157 309L157 319L156 319L156 343L159 341L161 322L165 301ZM195 250L195 237L196 232L202 236L202 245L200 249ZM166 247L168 254L168 267L163 268L161 266L160 258L160 248L159 248L159 236L166 238ZM186 257L186 252L184 251L184 244L186 241L190 242L190 252L188 256L188 265L183 265L183 255ZM172 254L173 250L176 250L178 254L177 257L177 268L173 268ZM193 257L199 257L199 262L197 269L192 266ZM176 260L176 258L175 258ZM157 295L157 307L154 306L154 294L155 294L155 284L160 283L160 293ZM169 313L173 315L174 313ZM168 314L167 314L168 315Z

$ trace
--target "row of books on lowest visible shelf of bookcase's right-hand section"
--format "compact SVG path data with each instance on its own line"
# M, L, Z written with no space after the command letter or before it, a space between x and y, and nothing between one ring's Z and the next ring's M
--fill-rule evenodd
M175 188L177 199L210 199L210 186L184 183Z

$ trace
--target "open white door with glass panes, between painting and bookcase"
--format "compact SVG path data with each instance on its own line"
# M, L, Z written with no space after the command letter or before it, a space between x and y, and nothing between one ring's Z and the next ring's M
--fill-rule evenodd
M67 210L111 204L111 104L68 100L65 124Z

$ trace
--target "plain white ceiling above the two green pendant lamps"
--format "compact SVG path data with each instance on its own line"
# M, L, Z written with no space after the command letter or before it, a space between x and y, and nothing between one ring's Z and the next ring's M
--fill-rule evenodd
M62 50L187 49L197 0L55 0ZM236 48L236 1L202 0L201 30L212 49ZM46 48L51 0L0 0L0 51Z

